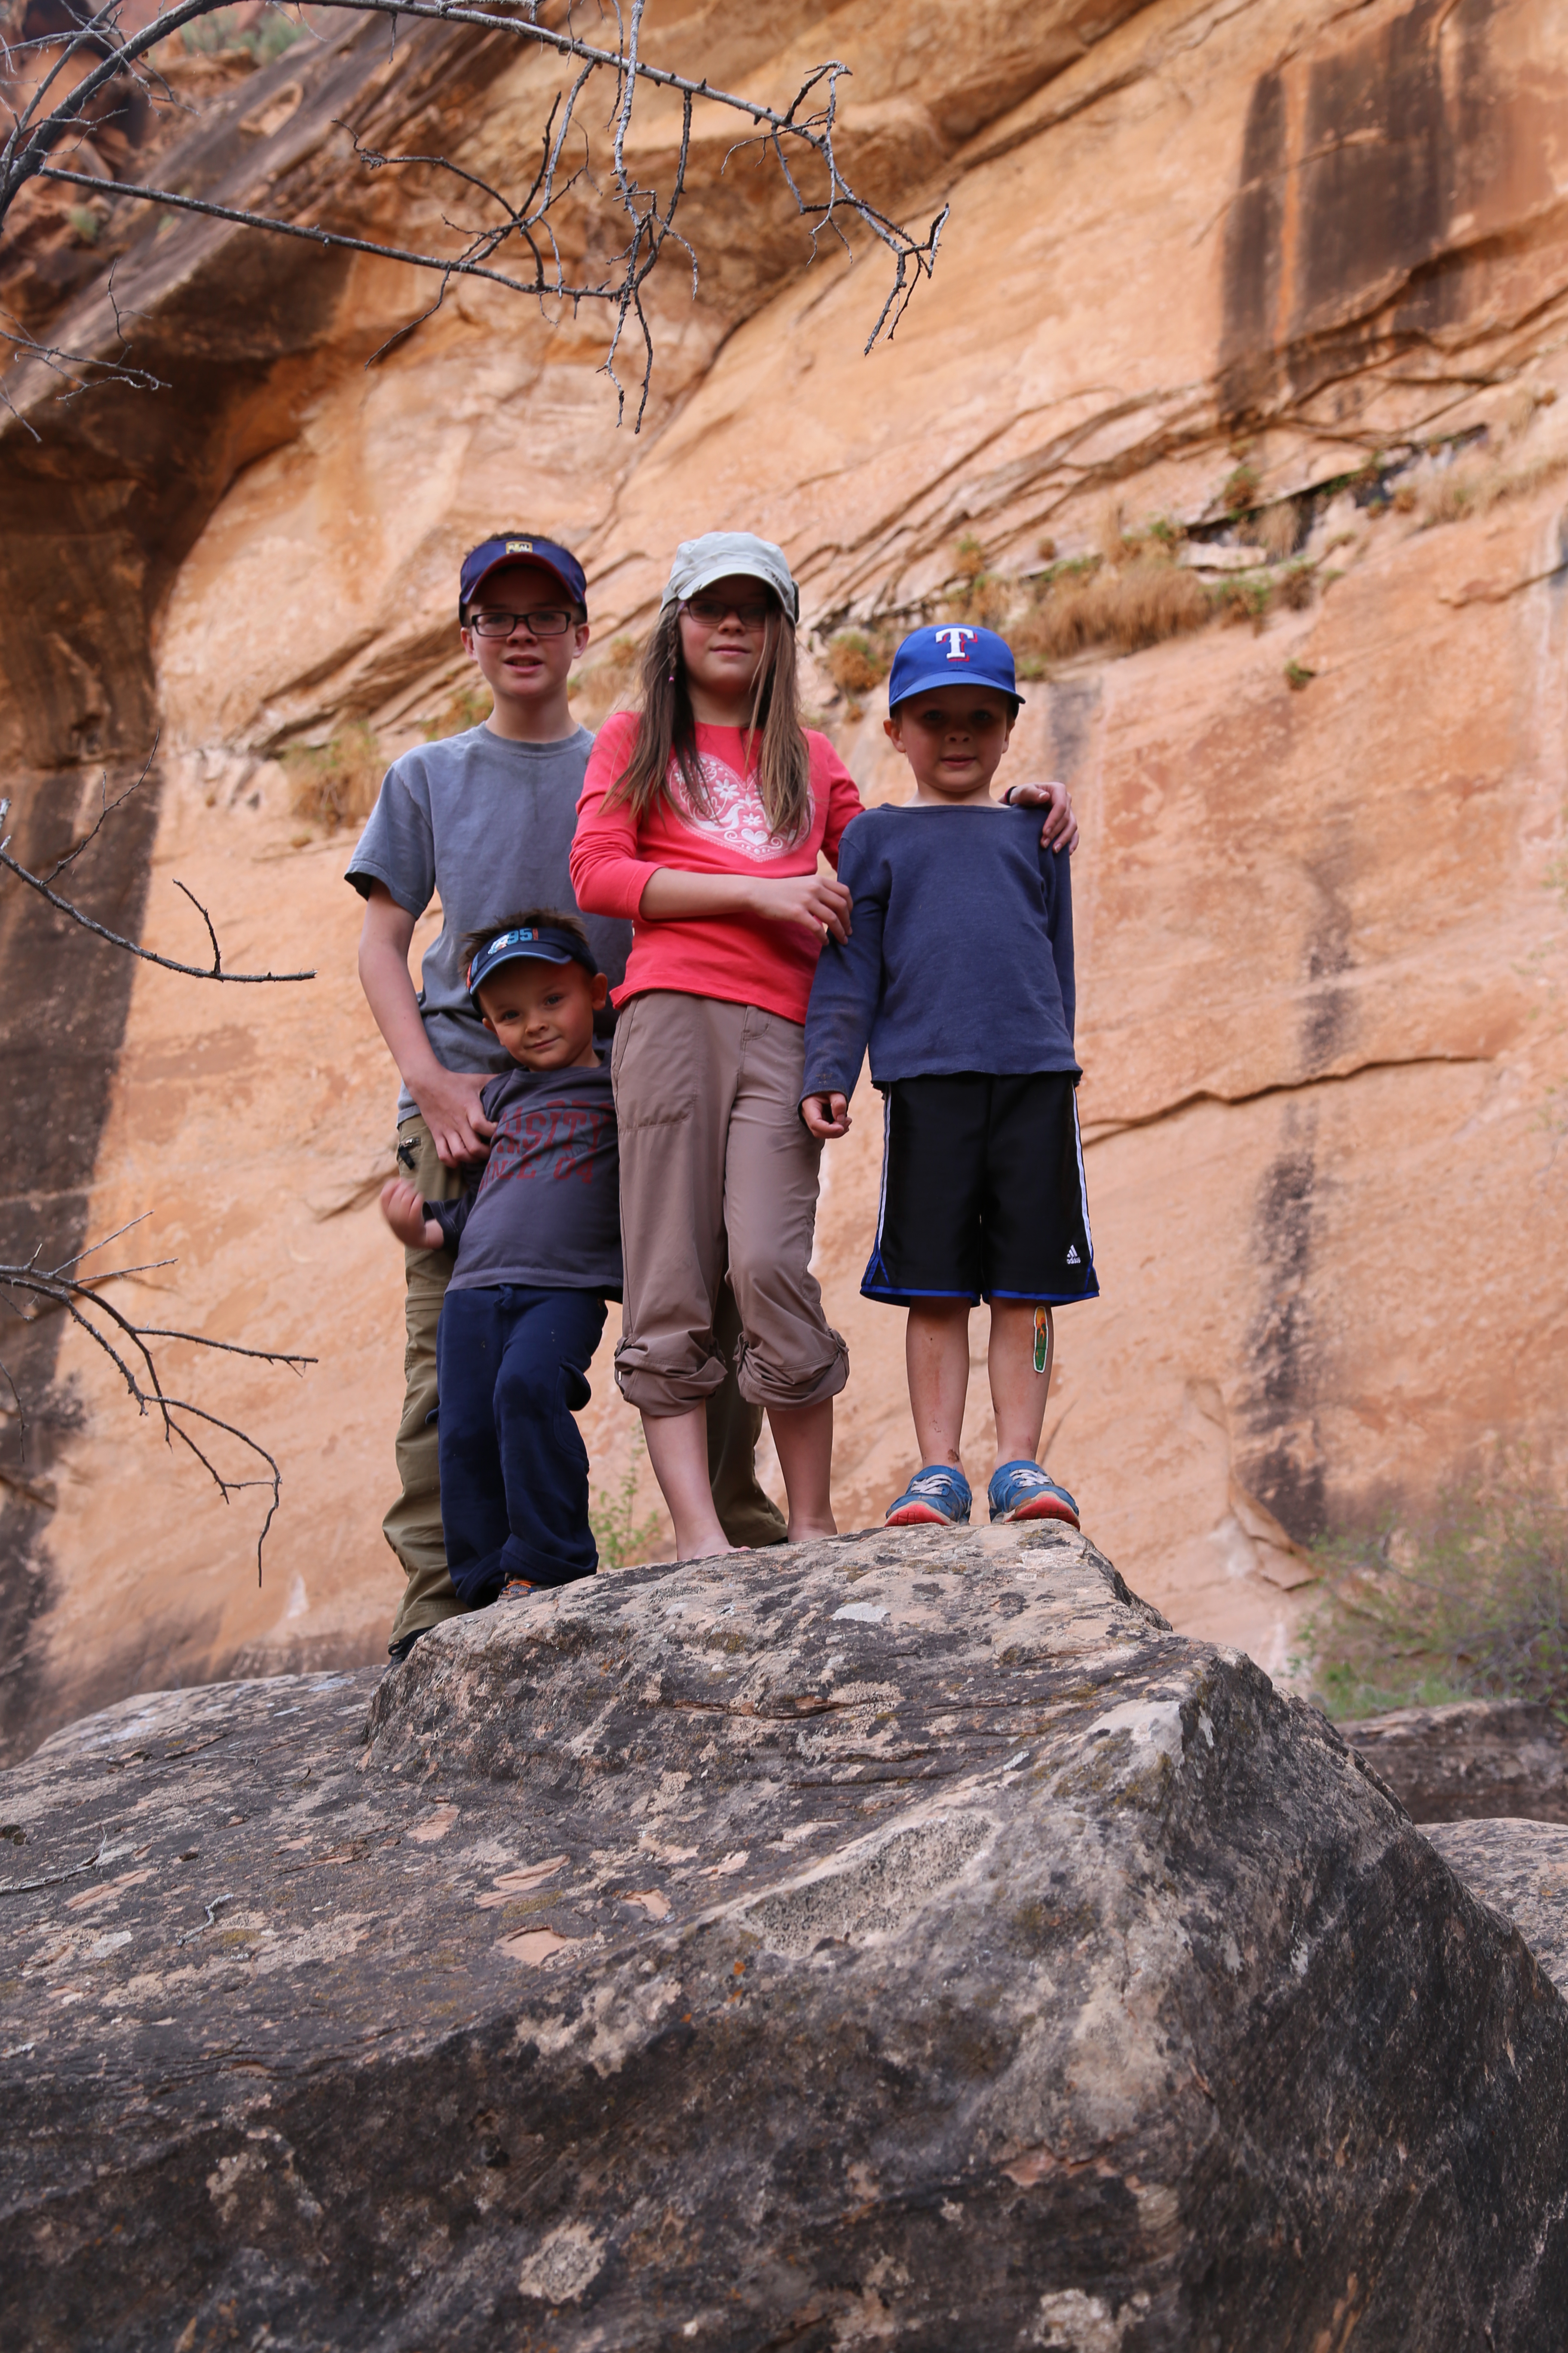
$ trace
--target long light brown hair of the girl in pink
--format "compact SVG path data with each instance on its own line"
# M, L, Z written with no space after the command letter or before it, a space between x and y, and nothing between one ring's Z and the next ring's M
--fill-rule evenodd
M795 680L795 624L771 598L766 652L757 664L748 753L757 736L757 798L773 840L792 842L806 831L811 809L811 751L799 725ZM637 824L658 807L682 816L670 788L670 762L693 816L710 816L708 784L696 755L696 718L686 687L679 605L665 605L642 656L639 729L632 758L607 793L607 805L625 802Z

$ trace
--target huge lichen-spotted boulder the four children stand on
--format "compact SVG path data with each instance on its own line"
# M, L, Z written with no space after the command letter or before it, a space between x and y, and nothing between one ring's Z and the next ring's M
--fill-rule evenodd
M1561 2339L1561 1995L1079 1537L599 1577L5 1819L7 2341Z

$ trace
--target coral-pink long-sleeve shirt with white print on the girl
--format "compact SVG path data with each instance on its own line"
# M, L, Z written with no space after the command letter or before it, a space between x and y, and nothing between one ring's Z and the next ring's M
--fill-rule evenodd
M778 842L769 835L757 793L757 762L745 762L743 729L698 725L696 755L712 814L691 812L679 769L670 762L670 788L682 814L658 807L637 824L625 802L604 807L604 795L632 755L637 727L635 713L618 711L599 729L571 842L571 887L583 913L632 920L632 953L625 981L614 991L616 1005L649 988L675 988L804 1021L820 953L804 922L769 922L759 915L675 915L658 922L639 913L642 894L663 866L771 880L813 875L818 854L837 866L844 826L860 814L853 776L827 736L806 729L811 809L799 840Z

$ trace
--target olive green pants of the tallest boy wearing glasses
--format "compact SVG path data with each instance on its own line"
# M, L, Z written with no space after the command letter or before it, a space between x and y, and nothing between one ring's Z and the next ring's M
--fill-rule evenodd
M421 1118L397 1129L400 1174L409 1176L425 1200L454 1200L463 1191L456 1169L442 1167L430 1129ZM435 1433L435 1327L442 1320L442 1297L451 1259L444 1249L407 1249L407 1346L402 1358L404 1400L397 1424L400 1497L381 1529L407 1577L393 1621L393 1642L423 1633L442 1619L458 1617L463 1605L447 1577L442 1539L440 1440ZM733 1362L741 1318L729 1285L722 1285L722 1308L715 1339ZM748 1405L733 1372L708 1400L708 1480L719 1527L731 1544L783 1544L783 1513L757 1485L757 1438L762 1407Z

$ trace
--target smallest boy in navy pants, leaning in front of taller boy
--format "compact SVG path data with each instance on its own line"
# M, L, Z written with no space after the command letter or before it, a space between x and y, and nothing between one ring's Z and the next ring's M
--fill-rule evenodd
M435 1341L442 1532L473 1609L599 1562L571 1417L621 1297L621 1160L592 1042L609 981L578 918L534 908L465 946L473 1009L508 1056L480 1089L489 1160L456 1202L393 1176L381 1212L404 1249L454 1259Z

